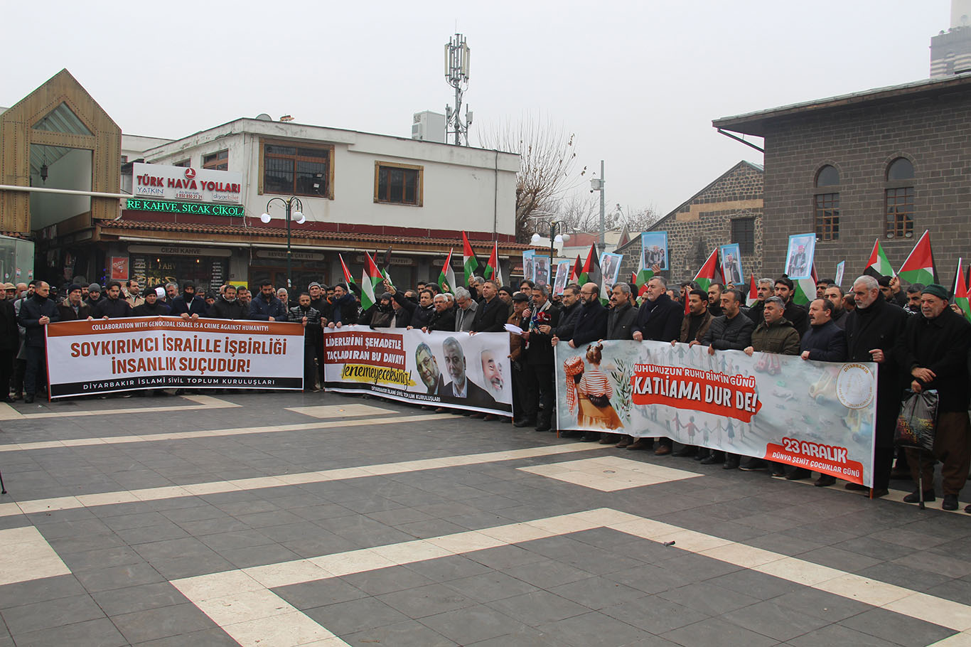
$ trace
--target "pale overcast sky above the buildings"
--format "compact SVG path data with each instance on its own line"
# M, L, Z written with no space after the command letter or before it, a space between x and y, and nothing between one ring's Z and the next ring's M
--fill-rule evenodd
M540 115L576 135L578 171L606 160L609 209L665 214L740 159L762 161L712 119L925 79L950 7L11 2L0 105L66 67L125 133L179 138L265 112L410 137L413 113L452 103L443 46L457 29L472 49L473 143L478 126Z

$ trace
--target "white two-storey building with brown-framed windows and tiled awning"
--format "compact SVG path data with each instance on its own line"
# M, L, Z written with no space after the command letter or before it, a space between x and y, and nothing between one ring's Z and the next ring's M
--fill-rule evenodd
M485 262L515 242L519 155L269 119L236 119L179 140L122 136L121 186L131 164L230 171L242 178L242 215L184 215L122 205L102 221L106 256L129 256L149 283L186 279L285 285L285 206L296 196L306 221L291 219L293 286L343 281L338 254L360 276L363 254L391 248L392 278L403 285L437 276L452 248L461 268L461 231ZM295 210L295 207L294 207ZM264 223L260 216L273 220Z

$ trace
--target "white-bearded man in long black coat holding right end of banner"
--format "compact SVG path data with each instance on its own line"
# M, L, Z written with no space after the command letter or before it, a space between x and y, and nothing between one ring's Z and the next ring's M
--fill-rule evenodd
M880 293L872 276L854 281L854 311L846 315L847 361L873 361L877 365L877 420L874 425L876 449L873 453L872 496L885 496L890 486L893 463L893 430L900 413L903 386L896 346L908 315L903 308L890 305ZM848 490L866 490L855 483Z

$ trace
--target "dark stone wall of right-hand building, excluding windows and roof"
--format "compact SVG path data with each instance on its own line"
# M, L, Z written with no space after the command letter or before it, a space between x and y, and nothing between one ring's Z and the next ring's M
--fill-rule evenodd
M790 234L815 231L814 188L824 164L840 171L840 236L820 241L816 268L832 277L846 260L851 285L879 238L895 269L925 229L940 279L950 285L958 256L971 256L971 91L933 99L909 98L779 119L765 131L765 266L783 271ZM887 166L897 157L914 164L913 238L887 239ZM899 186L894 183L893 186Z

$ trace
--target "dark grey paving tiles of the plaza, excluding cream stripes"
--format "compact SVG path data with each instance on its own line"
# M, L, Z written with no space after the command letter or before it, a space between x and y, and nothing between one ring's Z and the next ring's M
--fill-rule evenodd
M331 394L225 398L245 404L246 415L241 418L239 408L173 411L166 414L166 430L306 424L307 416L281 413L282 400L287 406L349 401ZM85 406L131 406L135 400L142 398ZM419 413L396 403L369 402L392 414ZM118 416L107 426L123 418L129 417ZM461 449L454 442L458 420ZM159 430L156 421L135 421L105 431L98 417L7 426L5 432L24 441ZM407 446L400 429L368 427L368 442L362 444L359 433L334 428L330 432L321 424L272 434L11 452L4 471L15 475L17 491L39 498L572 442L457 418L420 426L426 431L410 437ZM586 452L0 518L0 528L35 525L72 569L71 575L0 587L0 614L12 619L17 647L234 645L166 580L598 507L971 603L971 560L964 559L971 525L963 516L919 515L911 506L764 474L725 472L692 460L599 447ZM519 469L594 456L643 460L701 476L612 494ZM274 592L350 644L368 647L925 645L953 633L609 528ZM63 613L51 611L61 607ZM0 647L5 641L13 645L4 631L0 626Z

